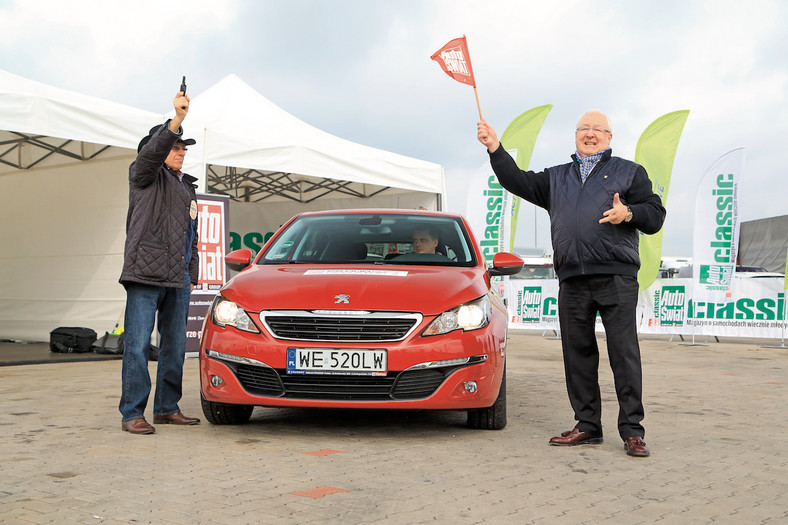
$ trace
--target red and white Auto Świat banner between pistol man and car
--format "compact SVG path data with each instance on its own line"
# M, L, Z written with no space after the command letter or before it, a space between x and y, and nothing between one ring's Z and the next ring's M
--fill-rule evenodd
M200 277L189 299L186 320L186 353L200 350L200 336L208 307L227 282L224 256L230 246L230 198L224 195L197 195L197 251Z

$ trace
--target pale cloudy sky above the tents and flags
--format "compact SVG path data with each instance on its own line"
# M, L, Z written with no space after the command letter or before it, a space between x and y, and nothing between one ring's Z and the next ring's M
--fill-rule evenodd
M0 0L0 69L161 114L181 76L194 97L236 74L326 132L440 164L446 208L465 213L487 160L476 99L429 57L466 35L499 134L554 106L531 169L568 162L586 110L628 159L651 122L689 110L663 255L691 256L698 185L734 148L741 220L788 214L786 20L780 0ZM523 206L515 246L551 251L546 212Z

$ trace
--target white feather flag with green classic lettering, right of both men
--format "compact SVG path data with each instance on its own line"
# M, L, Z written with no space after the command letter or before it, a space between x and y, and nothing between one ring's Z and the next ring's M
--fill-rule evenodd
M706 170L695 199L693 296L731 301L739 241L739 186L744 148L729 151Z

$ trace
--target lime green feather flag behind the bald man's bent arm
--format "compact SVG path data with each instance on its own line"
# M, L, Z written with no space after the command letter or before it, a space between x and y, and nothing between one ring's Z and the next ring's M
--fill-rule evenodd
M661 116L646 128L635 149L635 162L646 169L654 193L668 208L668 190L673 161L689 110L674 111ZM653 235L640 234L640 270L638 285L645 290L659 274L662 262L662 230Z

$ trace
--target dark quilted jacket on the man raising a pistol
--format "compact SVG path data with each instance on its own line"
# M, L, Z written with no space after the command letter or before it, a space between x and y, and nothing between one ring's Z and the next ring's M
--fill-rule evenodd
M195 202L191 175L183 182L164 165L181 135L172 133L169 121L140 150L129 166L129 211L126 246L120 282L183 288L186 271L186 233L192 227L189 209ZM197 221L194 221L189 278L197 284Z

